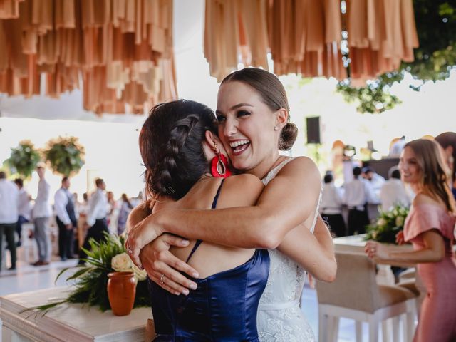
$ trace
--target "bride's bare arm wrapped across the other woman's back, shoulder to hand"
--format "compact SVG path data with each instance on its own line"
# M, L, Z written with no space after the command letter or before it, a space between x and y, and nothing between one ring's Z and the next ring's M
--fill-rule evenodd
M275 249L285 235L314 214L320 192L316 165L299 157L269 182L256 206L218 210L163 209L137 224L128 247L136 264L145 244L165 232L236 247ZM198 227L198 229L195 229Z

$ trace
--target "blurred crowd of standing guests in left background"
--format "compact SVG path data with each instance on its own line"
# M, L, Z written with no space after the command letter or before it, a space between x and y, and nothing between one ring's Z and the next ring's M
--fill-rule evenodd
M11 255L8 269L16 269L17 248L24 244L24 239L36 242L38 253L33 266L49 264L53 252L62 261L78 257L83 264L83 249L90 250L89 239L99 242L105 234L122 234L128 214L142 197L141 192L138 197L124 193L115 199L113 192L106 192L104 180L98 178L96 190L84 193L79 201L78 194L70 190L70 178L63 177L61 187L52 193L45 165L38 163L36 172L38 192L32 199L23 179L11 182L0 171L0 271L6 268L6 252ZM58 240L57 251L53 251L52 239Z

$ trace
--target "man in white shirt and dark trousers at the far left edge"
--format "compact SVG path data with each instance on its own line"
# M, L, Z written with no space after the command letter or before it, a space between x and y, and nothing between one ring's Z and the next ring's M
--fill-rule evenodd
M3 235L11 252L11 267L16 269L16 242L14 231L19 217L19 190L16 185L6 180L6 173L0 171L0 271L4 255Z

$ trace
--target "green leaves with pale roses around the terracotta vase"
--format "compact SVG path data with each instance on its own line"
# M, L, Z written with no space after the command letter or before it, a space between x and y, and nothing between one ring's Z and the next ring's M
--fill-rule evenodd
M87 253L86 264L62 269L56 277L57 281L64 272L76 269L73 275L66 279L66 281L75 282L68 297L27 310L38 309L46 314L49 309L63 303L86 303L89 306L98 306L100 311L109 310L108 274L115 271L133 271L137 280L133 307L150 306L150 296L147 281L145 281L147 274L132 263L125 253L124 243L123 236L107 233L105 233L105 241L95 242L90 239L91 251L84 249Z

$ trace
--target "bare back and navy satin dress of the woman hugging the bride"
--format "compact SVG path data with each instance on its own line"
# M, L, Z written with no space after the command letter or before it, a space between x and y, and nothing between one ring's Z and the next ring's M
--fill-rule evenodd
M261 190L261 182L251 175L229 177L224 185L219 179L204 179L180 201L160 207L252 205ZM192 279L197 289L188 296L175 296L150 282L156 341L258 341L257 308L269 273L268 252L198 240L175 255L204 278Z

